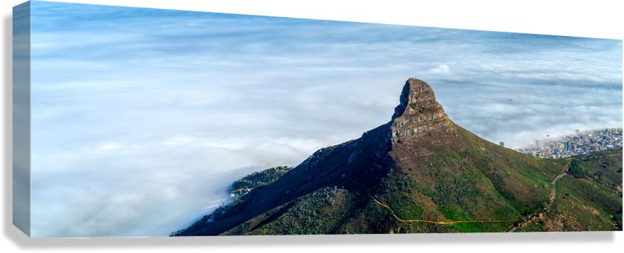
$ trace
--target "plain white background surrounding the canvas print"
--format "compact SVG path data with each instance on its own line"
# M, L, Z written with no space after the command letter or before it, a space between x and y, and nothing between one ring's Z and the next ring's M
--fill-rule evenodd
M21 2L1 1L0 8L3 43L1 252L317 252L328 249L348 252L604 252L624 248L624 233L29 239L11 225L11 7ZM622 1L68 2L624 39Z

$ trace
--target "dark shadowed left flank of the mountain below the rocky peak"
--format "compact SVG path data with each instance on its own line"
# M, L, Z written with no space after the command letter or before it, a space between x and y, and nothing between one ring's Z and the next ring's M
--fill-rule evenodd
M393 166L387 156L388 125L368 131L360 139L322 148L279 180L257 187L230 206L225 215L211 224L195 224L181 235L218 235L273 208L296 201L325 187L340 187L354 194L360 186L347 178L369 185L370 190Z

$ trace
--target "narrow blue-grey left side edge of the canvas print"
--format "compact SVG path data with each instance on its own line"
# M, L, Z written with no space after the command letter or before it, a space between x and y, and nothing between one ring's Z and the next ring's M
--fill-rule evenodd
M13 7L13 225L30 236L30 1Z

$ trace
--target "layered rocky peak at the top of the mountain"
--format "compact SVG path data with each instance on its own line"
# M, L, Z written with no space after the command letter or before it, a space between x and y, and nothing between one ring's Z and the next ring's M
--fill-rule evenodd
M433 89L428 83L409 78L403 86L399 101L391 120L393 142L436 129L452 131L452 122L435 99Z

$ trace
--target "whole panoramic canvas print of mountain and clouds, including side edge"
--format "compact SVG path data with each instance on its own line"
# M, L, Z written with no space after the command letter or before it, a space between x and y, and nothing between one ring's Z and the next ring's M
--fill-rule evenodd
M28 1L31 237L622 230L622 41Z

